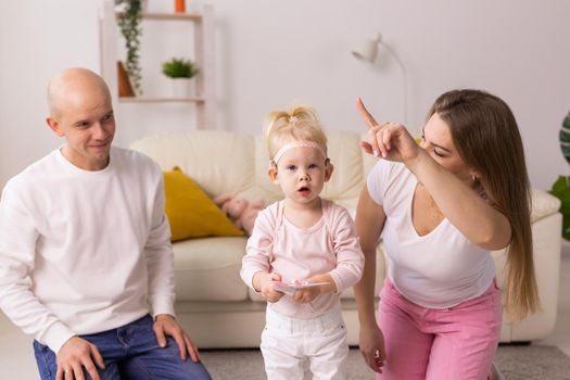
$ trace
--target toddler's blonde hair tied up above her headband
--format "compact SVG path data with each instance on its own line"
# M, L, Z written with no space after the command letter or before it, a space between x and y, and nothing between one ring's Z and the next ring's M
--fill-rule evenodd
M269 160L286 143L313 141L327 153L327 136L317 112L307 105L294 105L291 111L277 110L267 116L265 143Z

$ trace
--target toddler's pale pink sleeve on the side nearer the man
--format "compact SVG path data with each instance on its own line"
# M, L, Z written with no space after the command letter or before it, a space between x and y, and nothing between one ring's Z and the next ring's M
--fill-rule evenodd
M241 264L240 276L243 282L251 289L253 288L253 276L258 271L271 271L273 261L273 236L275 228L275 215L269 206L259 212L251 237L248 239L245 256Z

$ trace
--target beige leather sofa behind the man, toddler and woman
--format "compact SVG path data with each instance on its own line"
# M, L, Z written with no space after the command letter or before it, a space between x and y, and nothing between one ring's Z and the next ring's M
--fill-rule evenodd
M354 211L366 173L376 159L358 148L360 136L329 131L329 156L334 164L324 198ZM262 197L267 203L281 198L267 179L267 155L259 137L228 131L154 135L131 144L167 170L179 166L211 195L238 193ZM505 320L502 342L531 341L548 335L557 314L561 215L558 199L533 191L534 254L543 312L517 324ZM214 237L174 243L177 318L200 347L255 347L264 327L265 303L239 276L245 238ZM503 252L493 253L499 284L504 282ZM385 265L381 244L377 259L377 291ZM358 322L352 289L342 295L350 344L357 344Z

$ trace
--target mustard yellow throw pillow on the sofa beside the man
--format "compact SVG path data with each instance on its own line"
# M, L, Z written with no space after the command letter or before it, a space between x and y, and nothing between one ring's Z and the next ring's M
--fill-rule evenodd
M165 212L172 241L208 236L242 236L210 197L180 168L164 173Z

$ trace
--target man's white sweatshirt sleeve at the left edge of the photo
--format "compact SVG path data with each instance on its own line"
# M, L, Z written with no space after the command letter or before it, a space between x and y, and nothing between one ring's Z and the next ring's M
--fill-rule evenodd
M9 182L0 200L0 308L25 333L58 353L75 333L31 291L39 232L21 194Z

